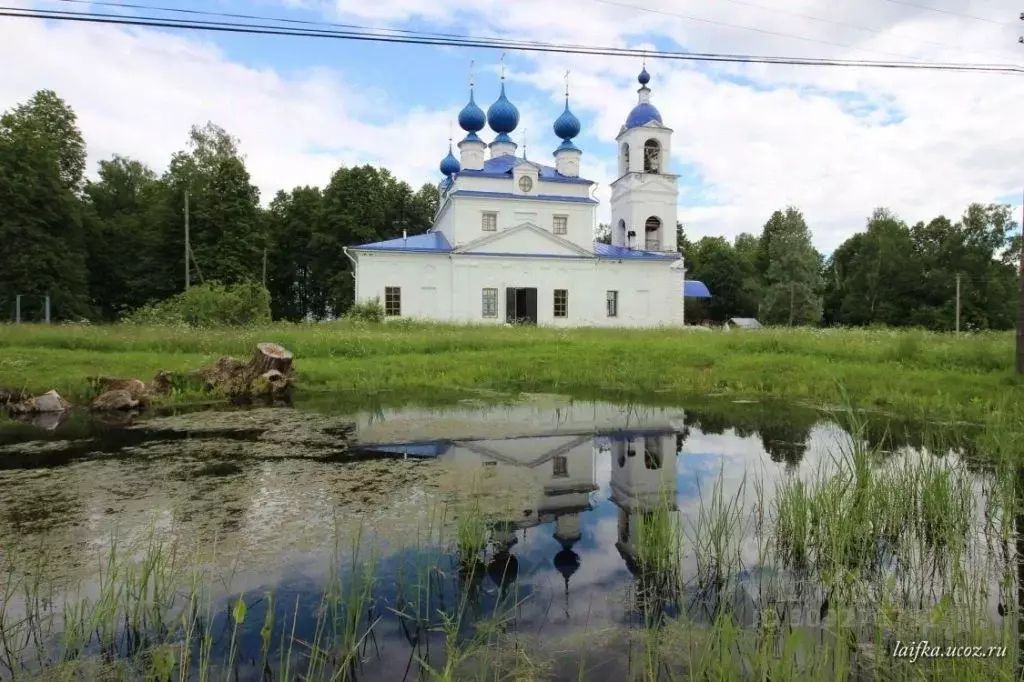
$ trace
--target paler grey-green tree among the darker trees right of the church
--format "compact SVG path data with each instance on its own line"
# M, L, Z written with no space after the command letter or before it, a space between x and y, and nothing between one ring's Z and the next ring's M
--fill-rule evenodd
M776 211L765 223L759 266L765 268L760 312L764 322L817 325L821 321L821 256L799 210Z

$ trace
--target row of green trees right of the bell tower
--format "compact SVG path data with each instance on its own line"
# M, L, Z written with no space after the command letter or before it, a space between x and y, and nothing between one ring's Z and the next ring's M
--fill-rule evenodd
M687 276L713 298L688 305L721 322L775 325L1011 329L1017 319L1021 238L1006 205L972 204L956 221L908 225L876 209L862 231L828 257L796 208L775 211L759 237L682 241Z

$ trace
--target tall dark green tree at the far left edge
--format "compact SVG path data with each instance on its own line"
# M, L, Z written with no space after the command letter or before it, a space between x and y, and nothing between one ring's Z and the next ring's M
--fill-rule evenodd
M82 210L85 164L75 113L44 90L0 117L0 306L26 312L51 298L53 318L91 313ZM40 315L41 316L41 315Z

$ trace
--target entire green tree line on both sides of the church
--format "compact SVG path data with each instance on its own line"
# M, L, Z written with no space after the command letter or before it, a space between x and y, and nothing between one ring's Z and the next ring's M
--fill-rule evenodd
M372 166L339 168L264 208L239 141L212 123L189 131L162 174L122 156L100 161L94 179L85 170L75 113L56 93L0 116L0 319L17 295L26 319L49 295L54 318L105 322L179 293L186 202L193 283L262 283L274 318L334 316L354 291L343 248L424 232L437 209L431 184L414 190ZM597 238L609 237L602 225ZM688 321L948 330L957 281L963 329L1016 319L1021 240L1009 206L912 226L878 209L828 257L793 207L732 242L691 243L682 224L677 237L687 276L713 294L688 303Z

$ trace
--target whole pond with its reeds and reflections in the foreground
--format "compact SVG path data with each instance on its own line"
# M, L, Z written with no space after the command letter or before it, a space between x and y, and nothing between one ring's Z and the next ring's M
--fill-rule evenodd
M979 436L555 396L7 423L0 678L1012 679Z

